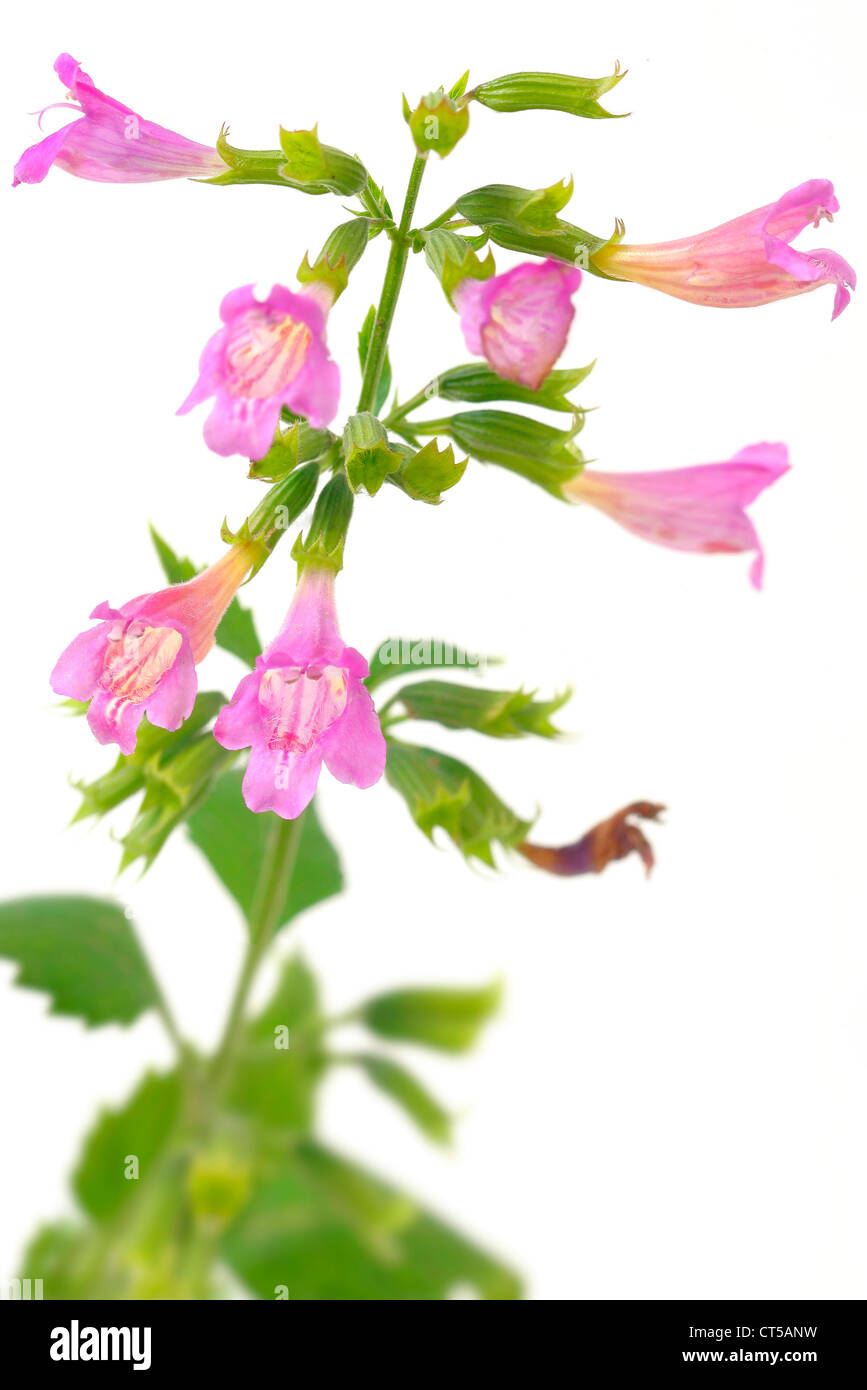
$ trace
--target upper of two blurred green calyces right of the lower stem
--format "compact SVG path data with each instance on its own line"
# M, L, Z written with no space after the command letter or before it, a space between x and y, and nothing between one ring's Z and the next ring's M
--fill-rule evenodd
M420 1042L440 1052L467 1052L500 1006L499 981L479 990L390 990L361 1005L371 1033L392 1042Z

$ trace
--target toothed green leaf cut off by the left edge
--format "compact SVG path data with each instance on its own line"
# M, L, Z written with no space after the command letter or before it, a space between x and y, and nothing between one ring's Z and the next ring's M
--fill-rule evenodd
M51 995L51 1013L90 1026L132 1023L158 1002L124 909L110 898L15 898L0 903L0 956L15 983Z

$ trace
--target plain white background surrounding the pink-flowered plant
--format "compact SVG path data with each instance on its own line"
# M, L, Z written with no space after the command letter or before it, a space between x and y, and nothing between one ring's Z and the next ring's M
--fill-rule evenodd
M46 0L8 36L4 160L11 170L36 139L26 113L61 97L51 64L68 49L111 95L200 140L231 121L235 143L268 147L278 122L318 120L397 203L411 154L402 89L415 101L465 67L477 82L534 67L596 76L620 58L629 75L607 103L629 120L474 107L467 139L425 177L420 220L482 182L571 172L565 215L602 234L620 215L629 239L657 240L827 177L842 213L802 243L863 268L860 7L621 0L610 15L559 0ZM160 587L149 518L207 560L224 513L249 510L243 461L208 453L203 411L174 411L222 293L292 284L339 220L338 200L272 188L54 171L8 193L7 894L111 888L107 827L64 828L68 771L99 773L110 753L51 710L47 674L99 600ZM342 411L383 257L375 242L332 316ZM497 254L500 270L513 260ZM856 295L831 324L823 289L727 313L591 277L577 303L563 363L599 359L584 386L600 407L584 435L599 467L788 442L793 471L754 509L766 591L743 556L657 549L495 468L471 466L439 509L388 488L361 499L339 589L350 642L442 634L507 653L515 681L575 688L577 737L559 745L442 744L518 809L542 806L550 844L636 796L671 809L650 883L636 860L595 880L522 865L493 877L432 849L388 785L324 778L352 892L311 912L283 954L303 947L335 1009L389 984L496 974L507 1002L471 1058L417 1058L464 1116L454 1152L432 1151L347 1074L327 1087L322 1129L527 1270L536 1298L864 1297L863 306ZM421 259L393 356L403 395L465 360ZM246 595L265 637L292 584L286 546ZM217 655L203 680L239 674ZM233 905L182 837L118 891L183 1026L210 1042L243 944ZM156 1022L86 1034L46 1017L13 973L0 965L3 1276L64 1208L94 1108L168 1059Z

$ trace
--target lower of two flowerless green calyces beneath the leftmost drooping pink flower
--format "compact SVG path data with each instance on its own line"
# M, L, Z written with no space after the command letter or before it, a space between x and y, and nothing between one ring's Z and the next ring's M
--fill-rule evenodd
M121 872L136 859L144 860L144 870L150 869L172 830L196 810L236 758L213 734L197 734L172 758L153 759L144 773L142 805L121 838Z

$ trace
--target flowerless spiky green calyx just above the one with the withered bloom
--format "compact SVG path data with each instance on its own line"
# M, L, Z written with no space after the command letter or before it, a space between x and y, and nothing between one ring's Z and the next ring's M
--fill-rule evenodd
M431 720L445 728L474 728L492 738L522 738L525 734L556 738L561 731L552 724L550 716L565 705L571 691L547 701L536 701L534 694L428 680L404 685L393 699L403 705L410 719Z

